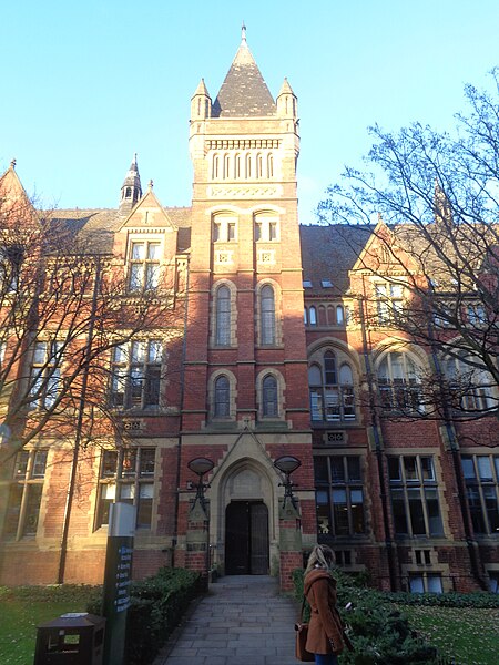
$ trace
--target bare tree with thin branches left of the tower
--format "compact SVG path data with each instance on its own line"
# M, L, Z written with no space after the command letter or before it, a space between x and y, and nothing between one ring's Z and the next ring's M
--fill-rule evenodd
M157 401L160 356L167 337L182 335L171 279L131 289L99 234L41 216L29 201L0 200L0 420L10 433L0 463L41 433L72 442L78 431L84 446L123 439L131 392ZM128 345L147 337L162 342L149 374L112 365L116 349L125 359Z

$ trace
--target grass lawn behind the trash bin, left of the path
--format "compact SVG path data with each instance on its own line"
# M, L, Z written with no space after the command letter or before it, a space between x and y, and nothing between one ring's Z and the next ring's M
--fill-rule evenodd
M2 597L0 594L0 663L31 665L37 626L67 612L84 612L85 595L71 600Z

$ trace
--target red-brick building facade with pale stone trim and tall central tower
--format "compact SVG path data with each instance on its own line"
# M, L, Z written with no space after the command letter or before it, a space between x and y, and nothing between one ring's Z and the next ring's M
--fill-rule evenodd
M285 79L274 100L244 30L217 96L198 84L189 140L191 207L164 207L152 183L144 194L134 158L116 211L52 215L123 278L128 324L118 317L108 331L130 331L131 310L160 284L169 297L164 309L150 298L146 330L103 347L113 433L95 416L90 371L74 413L82 428L93 419L99 444L83 444L82 428L59 436L62 426L47 419L4 463L1 583L101 582L118 500L136 507L138 577L185 565L279 574L286 589L318 540L339 566L384 590L497 589L491 419L452 424L451 446L446 424L396 417L400 400L418 399L414 377L428 350L384 326L384 308L401 296L359 263L355 246L369 235L350 229L352 243L345 229L298 225L297 99ZM26 203L13 165L0 182L6 205ZM368 306L381 313L376 325L363 316ZM34 376L20 411L31 428L53 409L71 366L60 338L34 331L9 366L21 383ZM6 419L16 391L4 381L3 392ZM283 458L299 464L293 487L274 464Z

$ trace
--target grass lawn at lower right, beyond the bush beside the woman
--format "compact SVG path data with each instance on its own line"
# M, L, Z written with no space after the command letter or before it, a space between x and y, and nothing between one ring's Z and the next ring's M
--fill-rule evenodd
M457 665L498 665L499 610L399 605L410 624Z

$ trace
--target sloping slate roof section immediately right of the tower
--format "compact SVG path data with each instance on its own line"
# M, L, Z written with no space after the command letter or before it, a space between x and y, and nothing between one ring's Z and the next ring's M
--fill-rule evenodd
M345 294L349 287L348 270L354 267L370 233L365 226L301 225L303 279L312 282L305 296ZM333 287L323 287L324 279L329 279Z

